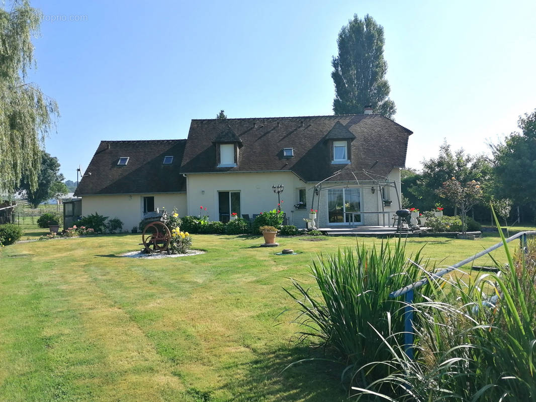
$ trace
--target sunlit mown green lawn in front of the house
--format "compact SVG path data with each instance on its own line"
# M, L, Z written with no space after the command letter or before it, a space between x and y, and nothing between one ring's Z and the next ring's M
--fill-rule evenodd
M159 260L119 257L140 248L132 234L0 249L0 400L344 400L337 364L281 373L322 356L296 345L295 312L279 315L293 307L282 289L289 277L312 283L317 252L355 244L321 239L280 238L274 250L259 248L260 237L194 235L206 254ZM423 238L407 248L426 244L444 265L498 241ZM282 247L299 254L274 255ZM503 251L494 255L504 262Z

